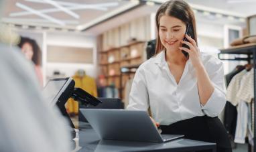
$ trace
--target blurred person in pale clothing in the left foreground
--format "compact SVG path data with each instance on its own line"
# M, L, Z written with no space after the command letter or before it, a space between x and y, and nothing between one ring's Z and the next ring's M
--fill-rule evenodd
M34 66L0 30L0 151L71 151L68 124L44 101Z

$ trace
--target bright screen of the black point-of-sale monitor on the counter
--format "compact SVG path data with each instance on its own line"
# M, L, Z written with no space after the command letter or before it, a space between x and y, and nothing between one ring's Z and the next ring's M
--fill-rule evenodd
M66 89L68 80L68 78L55 78L48 81L44 87L43 95L50 105L54 105L57 102L62 92Z

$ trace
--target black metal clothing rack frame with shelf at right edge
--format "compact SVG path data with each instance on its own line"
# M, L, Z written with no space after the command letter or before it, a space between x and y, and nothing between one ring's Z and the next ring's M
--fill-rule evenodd
M247 55L247 58L221 58L221 54L233 54L233 55L240 55L245 54ZM247 61L249 64L251 63L251 59L253 59L253 93L254 93L254 112L256 111L256 83L255 83L255 65L256 65L256 44L244 44L241 46L235 46L232 48L222 49L220 50L220 53L218 54L218 58L220 60L231 60L231 61ZM255 115L254 115L255 116ZM256 146L256 117L253 118L254 120L254 129L253 129L253 144ZM249 147L249 151L251 151L251 148ZM253 148L253 151L256 152L256 148Z

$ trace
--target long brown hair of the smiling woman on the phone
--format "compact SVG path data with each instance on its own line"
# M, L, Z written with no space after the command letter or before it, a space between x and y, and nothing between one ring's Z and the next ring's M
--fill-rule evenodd
M194 17L192 8L188 5L188 3L182 0L166 1L159 7L155 15L155 23L157 27L155 54L164 49L159 37L159 20L163 15L176 17L183 21L186 25L190 24L190 27L194 31L194 34L192 34L192 39L194 39L197 44L196 19Z

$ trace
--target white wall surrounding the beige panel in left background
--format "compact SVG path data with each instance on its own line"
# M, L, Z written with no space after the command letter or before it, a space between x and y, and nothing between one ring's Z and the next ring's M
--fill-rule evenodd
M73 76L74 73L83 69L88 76L97 75L97 48L96 37L86 36L76 33L46 33L46 45L52 46L73 46L79 48L93 48L93 64L66 64L66 63L47 63L46 76L51 76L54 70L64 72L66 76Z

